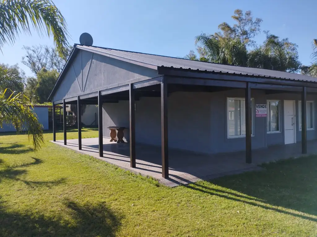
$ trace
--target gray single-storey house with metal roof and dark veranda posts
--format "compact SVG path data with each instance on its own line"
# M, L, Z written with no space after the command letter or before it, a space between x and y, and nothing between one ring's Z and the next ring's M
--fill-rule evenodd
M136 143L161 146L168 177L169 148L246 151L247 163L277 144L301 143L307 153L317 138L316 93L310 76L76 44L49 100L98 105L99 155L107 127L127 127L131 167Z

